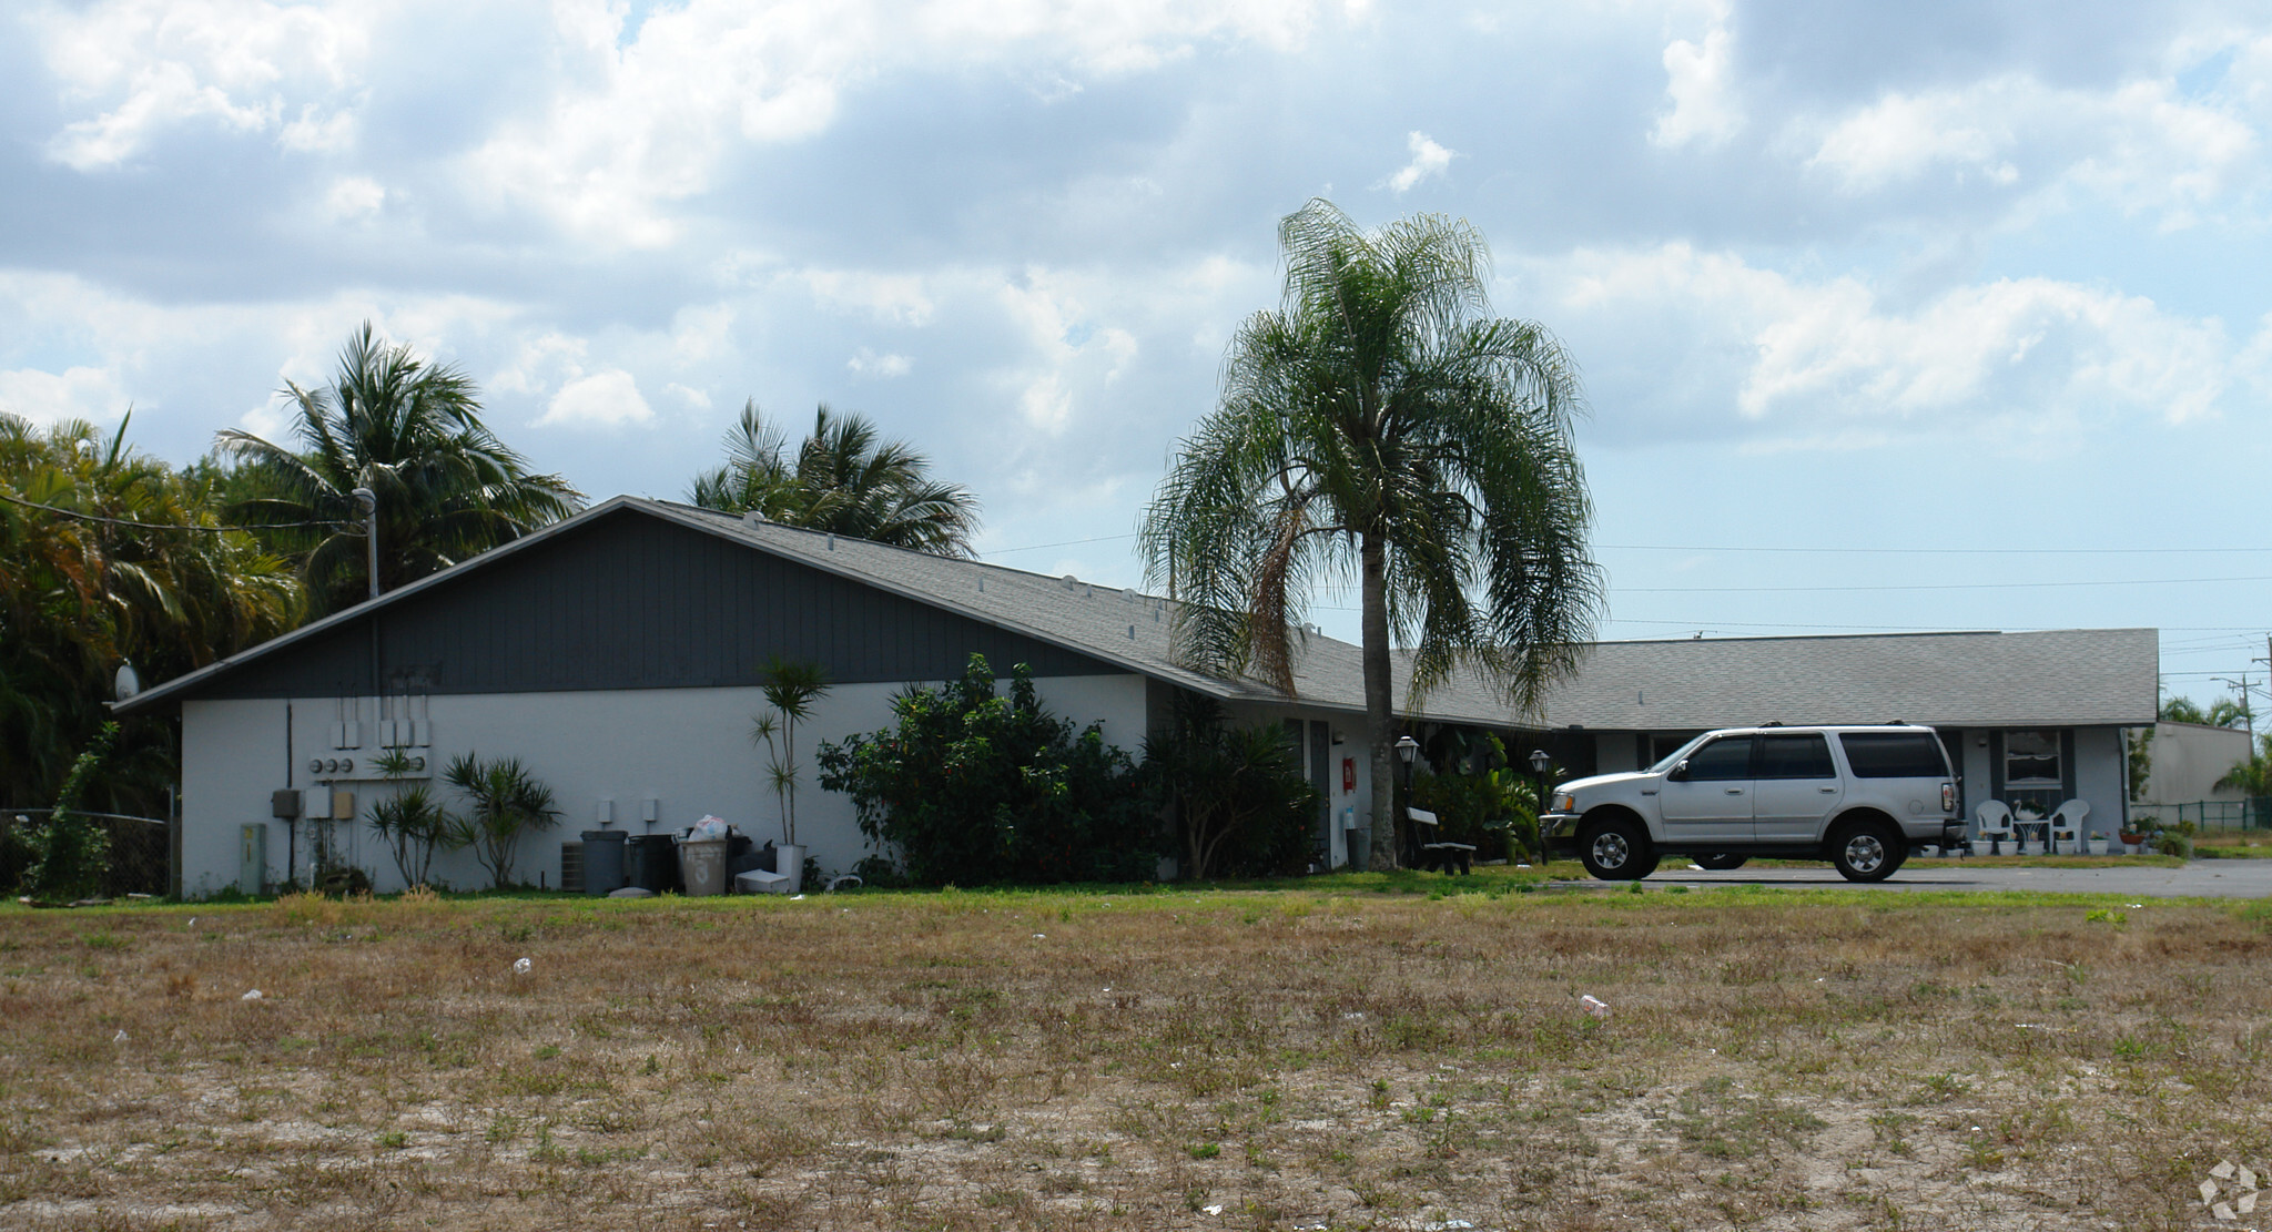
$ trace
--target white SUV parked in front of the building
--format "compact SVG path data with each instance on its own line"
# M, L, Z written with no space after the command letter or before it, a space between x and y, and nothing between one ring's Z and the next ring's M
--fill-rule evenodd
M1915 843L1963 843L1956 775L1931 727L1729 727L1647 771L1554 789L1538 834L1602 880L1638 880L1663 855L1704 868L1829 859L1881 882Z

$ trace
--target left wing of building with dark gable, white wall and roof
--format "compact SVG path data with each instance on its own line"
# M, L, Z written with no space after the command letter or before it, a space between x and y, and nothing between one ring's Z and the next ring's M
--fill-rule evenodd
M554 791L563 825L523 841L516 873L529 880L559 884L559 843L588 827L677 832L716 814L777 839L750 739L772 657L820 664L832 682L800 723L797 839L822 868L872 852L852 800L818 789L818 743L888 727L893 696L961 677L972 652L1004 677L1027 664L1054 714L1100 723L1129 752L1163 727L1175 689L1218 698L1234 721L1288 725L1325 798L1318 846L1345 861L1345 825L1370 800L1356 650L1304 641L1315 652L1286 698L1177 666L1154 596L616 498L118 711L179 707L189 896L304 877L316 841L402 889L368 807L438 780L459 752L518 757ZM384 775L389 752L418 768ZM307 821L275 818L284 791ZM484 882L468 852L434 875Z

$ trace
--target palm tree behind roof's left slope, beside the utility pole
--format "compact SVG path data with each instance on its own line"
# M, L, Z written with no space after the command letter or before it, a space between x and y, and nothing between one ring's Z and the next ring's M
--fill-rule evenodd
M386 343L368 321L348 339L329 386L284 382L282 396L300 450L250 432L218 436L220 450L257 468L254 486L266 489L229 511L264 525L332 523L277 534L323 611L352 607L370 591L354 489L379 498L379 589L520 539L584 500L559 475L529 473L482 423L470 377Z

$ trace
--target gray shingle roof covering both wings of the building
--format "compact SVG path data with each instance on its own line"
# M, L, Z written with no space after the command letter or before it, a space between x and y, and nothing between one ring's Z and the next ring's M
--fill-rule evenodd
M1159 596L632 496L607 500L577 518L391 591L379 602L445 586L461 571L482 568L554 534L573 534L575 525L620 507L1052 641L1184 689L1225 700L1286 700L1259 682L1218 680L1177 666L1168 652L1168 600ZM189 673L143 693L127 709L179 696L200 680L234 671L248 659L361 611L361 607L341 611ZM1906 718L1988 727L2145 725L2154 721L2158 702L2158 659L2154 630L1606 641L1588 650L1577 677L1554 689L1543 716L1531 723L1543 721L1552 727L1577 723L1593 730L1693 730L1770 718L1786 723ZM1400 657L1395 664L1400 698L1404 680ZM1359 648L1322 634L1304 636L1295 657L1295 693L1304 705L1363 711ZM1522 723L1495 689L1472 677L1434 691L1413 714L1488 725Z

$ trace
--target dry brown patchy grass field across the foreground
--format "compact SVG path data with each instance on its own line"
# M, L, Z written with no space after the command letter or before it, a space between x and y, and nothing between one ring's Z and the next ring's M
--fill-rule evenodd
M0 1227L2199 1227L2272 1162L2263 905L1445 886L0 909Z

